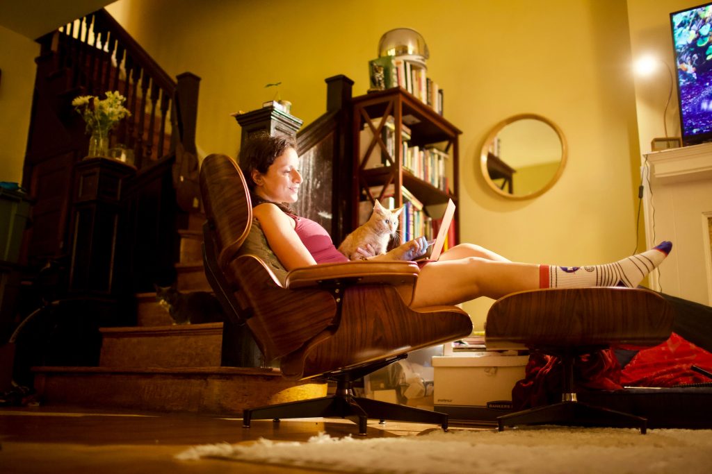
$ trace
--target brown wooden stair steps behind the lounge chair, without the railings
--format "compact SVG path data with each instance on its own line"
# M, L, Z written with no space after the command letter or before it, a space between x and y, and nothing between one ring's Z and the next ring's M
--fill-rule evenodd
M181 291L210 291L202 234L194 216L181 232ZM325 382L289 382L273 367L221 367L223 323L174 325L155 301L137 295L138 325L101 328L98 367L35 367L42 404L199 414L241 414L246 408L323 397Z

